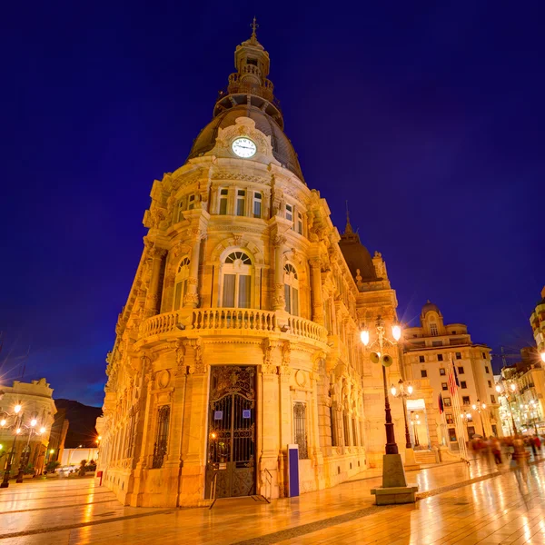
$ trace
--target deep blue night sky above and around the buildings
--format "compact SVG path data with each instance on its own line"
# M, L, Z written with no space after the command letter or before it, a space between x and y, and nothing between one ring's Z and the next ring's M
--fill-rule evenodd
M4 380L26 362L55 397L102 404L152 183L210 120L253 15L306 182L340 230L350 201L401 318L416 324L431 299L475 342L531 344L545 284L541 5L5 3Z

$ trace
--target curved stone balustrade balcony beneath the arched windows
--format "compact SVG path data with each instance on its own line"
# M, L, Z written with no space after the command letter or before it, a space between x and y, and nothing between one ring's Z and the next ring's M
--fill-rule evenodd
M276 333L287 338L294 335L324 344L327 342L327 331L322 325L299 316L291 316L285 312L229 308L157 314L142 323L140 337L150 340L150 337L170 337L172 333L182 331L184 335L192 337L208 333L248 333L258 336L263 333Z

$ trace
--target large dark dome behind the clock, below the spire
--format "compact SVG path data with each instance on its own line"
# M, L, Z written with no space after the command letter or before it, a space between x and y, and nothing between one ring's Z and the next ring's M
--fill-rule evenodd
M282 163L282 166L292 171L304 183L301 166L297 159L297 154L293 150L292 143L283 133L279 124L277 124L270 115L265 114L260 108L252 104L237 104L233 108L217 114L213 120L207 124L201 133L193 142L193 147L188 159L193 159L200 154L205 154L213 149L218 129L231 126L237 117L250 117L255 122L255 128L263 134L271 136L272 154L274 158Z

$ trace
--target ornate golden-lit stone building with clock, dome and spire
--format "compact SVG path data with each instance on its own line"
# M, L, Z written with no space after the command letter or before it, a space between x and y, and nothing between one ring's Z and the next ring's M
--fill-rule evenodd
M305 183L255 31L234 59L187 161L154 182L107 359L98 469L125 504L200 505L213 475L219 497L269 480L282 497L289 443L303 492L381 464L381 369L359 332L395 319L386 266Z

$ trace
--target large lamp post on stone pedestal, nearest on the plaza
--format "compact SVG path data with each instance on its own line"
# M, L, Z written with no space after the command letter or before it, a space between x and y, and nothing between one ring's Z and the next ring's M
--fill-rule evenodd
M415 493L418 490L416 486L407 486L403 461L395 442L395 432L393 421L391 421L390 400L388 399L388 386L386 382L386 367L390 367L393 360L391 355L384 353L387 346L395 346L401 339L401 326L394 322L391 326L391 336L393 341L386 337L384 321L378 316L375 323L375 340L371 342L371 333L363 326L361 339L363 345L372 349L376 347L378 352L371 352L370 359L373 363L380 363L382 368L382 386L384 389L384 412L386 430L385 454L382 457L382 486L371 490L375 495L377 505L390 505L392 503L413 503L416 501Z

